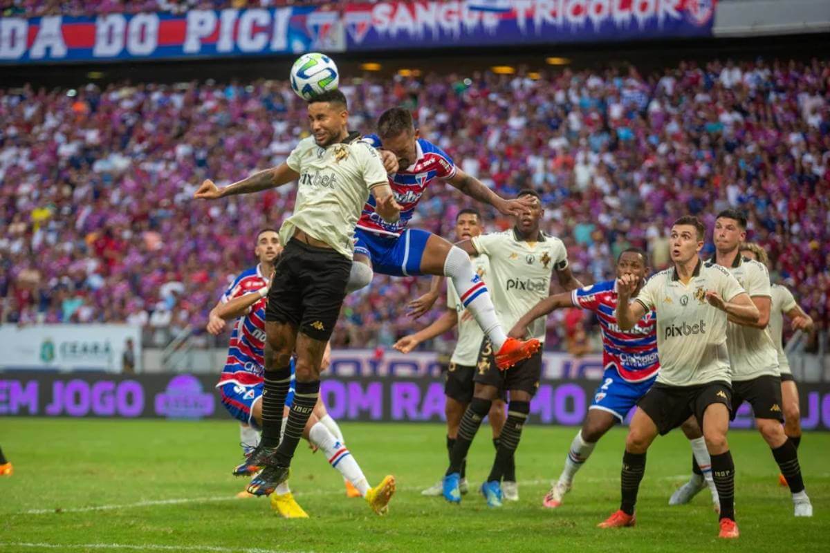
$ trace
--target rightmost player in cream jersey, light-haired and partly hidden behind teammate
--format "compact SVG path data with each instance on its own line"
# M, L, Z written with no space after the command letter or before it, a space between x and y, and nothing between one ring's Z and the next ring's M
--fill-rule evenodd
M769 267L769 257L761 246L747 242L740 246L740 255L750 260L758 260ZM772 306L769 309L769 333L778 350L779 371L781 373L781 409L784 410L784 434L793 442L795 449L801 444L801 408L798 402L798 387L795 386L793 371L789 368L789 359L784 352L784 315L790 319L793 330L813 331L813 318L810 317L793 298L793 293L783 284L773 284ZM779 474L779 482L787 486L787 478Z

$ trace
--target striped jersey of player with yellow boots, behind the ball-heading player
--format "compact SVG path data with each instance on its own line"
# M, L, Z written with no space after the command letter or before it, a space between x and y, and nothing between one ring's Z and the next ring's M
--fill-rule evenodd
M239 298L268 284L262 276L259 265L242 272L222 294L222 303ZM219 376L218 386L233 382L242 386L254 386L262 381L264 360L262 350L265 347L265 308L267 298L261 298L251 305L247 315L237 318L231 331L231 342L227 350L227 360Z

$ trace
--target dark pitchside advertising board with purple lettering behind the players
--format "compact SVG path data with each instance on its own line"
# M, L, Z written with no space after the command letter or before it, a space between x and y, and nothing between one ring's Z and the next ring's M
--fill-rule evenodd
M0 416L226 419L216 375L0 372ZM599 382L543 380L530 404L531 424L582 424ZM798 384L805 430L830 430L830 383ZM441 422L442 378L324 378L320 395L341 421ZM630 418L629 414L629 418ZM733 429L754 425L742 405Z

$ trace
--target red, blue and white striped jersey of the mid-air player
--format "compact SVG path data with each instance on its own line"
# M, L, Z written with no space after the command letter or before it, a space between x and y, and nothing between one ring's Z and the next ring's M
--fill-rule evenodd
M364 140L375 148L382 148L380 138L375 134L365 136ZM383 235L401 235L412 219L415 206L421 201L421 196L429 183L436 178L447 179L455 176L456 164L452 163L452 158L441 148L428 140L418 138L415 149L415 162L406 169L398 169L398 172L389 177L389 186L392 187L395 200L401 205L401 218L394 223L383 221L374 211L374 196L369 196L357 228Z

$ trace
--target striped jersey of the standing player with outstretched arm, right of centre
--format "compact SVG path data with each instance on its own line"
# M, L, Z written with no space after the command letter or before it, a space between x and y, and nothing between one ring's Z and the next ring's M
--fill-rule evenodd
M630 330L617 325L617 281L608 280L575 289L574 305L593 311L603 334L603 365L613 366L627 382L642 382L657 375L657 325L653 311L648 311Z

